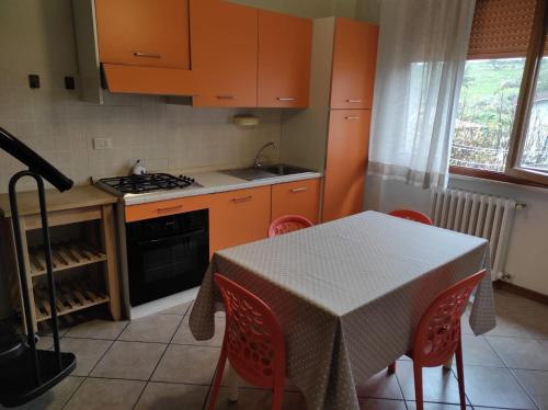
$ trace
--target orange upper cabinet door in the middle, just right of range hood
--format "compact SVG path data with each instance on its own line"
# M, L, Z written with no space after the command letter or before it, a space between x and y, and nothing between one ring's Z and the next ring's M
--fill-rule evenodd
M258 10L191 0L193 105L256 106Z

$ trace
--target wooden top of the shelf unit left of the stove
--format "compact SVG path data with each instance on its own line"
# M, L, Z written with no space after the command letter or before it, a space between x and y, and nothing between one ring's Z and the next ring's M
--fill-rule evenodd
M94 185L75 186L64 193L57 190L46 190L47 210L78 209L89 206L115 204L118 198ZM25 191L18 194L20 216L39 214L37 191ZM8 194L0 194L0 215L11 217L10 198Z

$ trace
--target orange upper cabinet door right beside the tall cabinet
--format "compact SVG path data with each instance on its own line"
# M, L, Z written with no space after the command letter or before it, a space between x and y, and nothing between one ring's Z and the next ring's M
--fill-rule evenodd
M308 105L311 50L311 20L259 10L259 106Z

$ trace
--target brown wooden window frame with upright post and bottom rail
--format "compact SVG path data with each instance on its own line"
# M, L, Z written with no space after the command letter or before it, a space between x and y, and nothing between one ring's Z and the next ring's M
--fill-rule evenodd
M517 96L516 113L509 144L509 156L504 172L466 167L449 167L450 174L510 182L522 185L548 187L548 172L521 167L522 149L525 144L533 99L536 90L540 61L548 43L548 0L537 1L533 32L525 58L525 68Z

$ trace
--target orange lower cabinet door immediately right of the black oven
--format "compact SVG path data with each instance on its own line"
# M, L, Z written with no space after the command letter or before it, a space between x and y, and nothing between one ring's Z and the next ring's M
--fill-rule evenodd
M214 252L267 237L271 187L214 194L209 212L209 249Z

